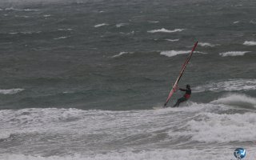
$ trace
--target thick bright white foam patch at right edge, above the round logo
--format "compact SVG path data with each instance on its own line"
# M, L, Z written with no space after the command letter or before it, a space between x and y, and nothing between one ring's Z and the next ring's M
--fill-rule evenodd
M256 139L256 114L196 114L177 136L198 142L246 142ZM183 126L184 127L184 126Z

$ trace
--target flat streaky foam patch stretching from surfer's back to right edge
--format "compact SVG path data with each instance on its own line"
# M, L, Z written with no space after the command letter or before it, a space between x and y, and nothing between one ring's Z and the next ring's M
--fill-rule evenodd
M196 86L193 92L203 92L206 90L220 92L223 90L256 90L256 79L230 79L225 82L209 82L206 85Z

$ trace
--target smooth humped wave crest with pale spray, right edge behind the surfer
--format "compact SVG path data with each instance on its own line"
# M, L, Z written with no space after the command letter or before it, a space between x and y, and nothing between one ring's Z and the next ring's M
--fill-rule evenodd
M218 98L211 103L256 108L256 98L246 94L226 94L224 97Z

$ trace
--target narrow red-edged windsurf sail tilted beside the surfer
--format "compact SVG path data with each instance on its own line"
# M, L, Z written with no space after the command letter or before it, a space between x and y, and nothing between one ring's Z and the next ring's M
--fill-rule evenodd
M192 54L193 54L195 48L197 47L197 45L198 45L198 42L194 43L194 46L193 46L190 54L187 56L186 61L184 62L183 66L182 66L182 70L179 73L178 78L176 79L173 88L170 90L170 94L168 95L168 98L166 99L166 103L165 103L164 107L167 105L167 103L169 102L171 96L177 90L178 82L182 78L182 74L184 73L184 71L186 69L186 65L190 62L190 58L192 57Z

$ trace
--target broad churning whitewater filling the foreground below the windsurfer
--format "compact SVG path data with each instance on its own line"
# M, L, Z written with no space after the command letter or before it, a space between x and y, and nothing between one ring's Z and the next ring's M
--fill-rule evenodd
M222 149L222 156L218 159L233 158L234 149L226 147L225 144L216 147L218 144L211 146L193 141L233 142L242 136L244 138L238 141L248 139L252 141L256 133L256 128L253 127L256 116L254 113L233 115L207 113L216 109L214 107L214 104L192 103L189 106L164 110L108 111L56 108L0 110L0 130L8 129L6 138L10 134L42 136L39 142L38 138L30 138L29 144L32 150L26 150L26 144L14 146L14 150L19 150L18 153L26 153L26 155L6 153L0 154L0 159L198 160L202 158L215 160L216 153ZM45 141L52 135L59 137L54 139L54 142ZM179 139L175 139L176 137ZM193 141L190 139L182 141L184 137ZM85 139L86 143L80 142L81 138ZM169 145L174 139L178 142L177 146ZM56 143L57 151L59 146L65 146L69 149L68 152L65 154L62 154L62 151L61 154L50 152L50 154L58 154L50 156L49 152L46 153L46 148L50 150L49 146L53 143ZM189 148L193 143L200 149L197 150L194 146ZM37 150L37 147L33 150L38 144L40 150ZM75 146L72 146L74 144ZM178 149L183 146L186 149ZM202 147L206 149L201 149ZM144 149L146 151L143 151ZM40 156L45 154L48 156Z

